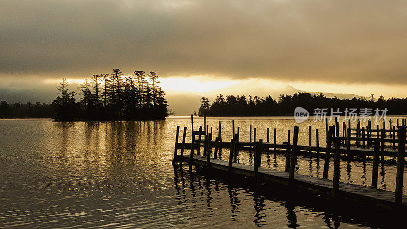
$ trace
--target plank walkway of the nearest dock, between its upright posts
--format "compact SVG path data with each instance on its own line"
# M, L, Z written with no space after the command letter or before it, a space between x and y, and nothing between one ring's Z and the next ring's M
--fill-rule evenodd
M192 161L190 155L177 155L175 157L176 162L187 162L188 164L195 164L203 167L208 166L207 157L200 155L193 155ZM228 162L219 159L210 160L210 168L213 170L223 171L228 173ZM253 166L232 163L232 175L240 175L246 177L254 176ZM285 171L278 171L275 169L258 168L257 179L260 182L268 182L279 184L289 187L290 185L295 186L299 190L304 190L307 192L313 192L319 195L324 195L332 197L332 187L333 181L308 177L304 175L296 174L294 180L290 182L289 173ZM346 199L354 203L359 203L362 205L376 206L385 209L400 209L400 205L394 203L394 192L386 191L382 189L366 187L362 185L347 184L339 182L339 193L340 199ZM402 209L407 210L407 196L403 195L402 198Z

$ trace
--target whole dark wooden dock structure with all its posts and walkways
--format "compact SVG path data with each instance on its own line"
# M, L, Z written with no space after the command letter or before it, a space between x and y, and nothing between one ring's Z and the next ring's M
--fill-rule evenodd
M193 123L192 117L191 121ZM379 135L372 137L371 133L373 131L371 131L369 125L367 127L368 132L365 136L365 129L360 128L360 124L358 124L356 128L356 137L351 136L352 129L346 128L346 126L343 126L343 135L340 136L338 122L336 122L336 125L333 126L328 127L327 125L326 146L320 147L318 143L318 131L316 131L317 146L311 146L311 140L309 146L299 146L298 126L294 127L292 142L290 142L290 131L288 131L288 141L283 142L282 144L277 144L276 129L274 129L273 143L269 142L269 136L267 136L267 142L263 142L262 139L258 139L258 141L256 141L255 128L253 129L254 133L252 141L251 126L249 142L240 142L239 127L235 133L235 125L234 122L232 122L233 138L227 142L222 141L220 121L218 127L219 135L215 138L215 141L212 140L212 127L210 128L211 131L209 131L208 126L203 131L202 127L199 127L198 131L194 131L192 124L192 140L189 144L185 142L187 127L184 127L182 142L178 142L178 138L180 137L180 127L177 127L173 164L188 163L190 166L203 166L210 171L215 171L217 174L225 174L225 178L235 176L251 177L258 182L278 184L287 186L290 189L313 192L317 195L333 198L334 200L340 199L351 203L368 205L377 208L405 211L407 210L407 196L402 194L406 143L405 124L406 122L403 120L402 126L397 126L397 130L392 128L391 131L388 131L391 133L392 138L388 138L387 142L392 142L393 149L397 150L384 147L383 143L385 142L384 139L386 133L385 128L383 128L381 131L381 137L379 137ZM385 126L385 123L383 126ZM360 132L360 129L363 130L362 133ZM376 130L377 134L379 134L379 128L376 128ZM345 132L347 132L347 134L345 134ZM269 129L267 133L269 134ZM196 135L198 136L198 139L195 139ZM396 135L397 139L395 138ZM351 140L355 141L355 144L351 144ZM358 147L358 141L359 144L360 141L363 141L362 145L364 147ZM396 142L397 148L395 147ZM202 146L203 152L201 155ZM228 161L217 159L218 152L220 152L222 148L228 148L230 150ZM214 150L212 151L212 149ZM237 155L239 154L240 149L248 149L254 153L253 166L237 163ZM180 154L178 154L179 150L181 150ZM184 154L185 150L190 151L190 153ZM285 151L285 171L261 168L261 155L265 151ZM196 154L194 152L196 152ZM297 156L301 154L312 154L315 156L325 157L322 179L295 174ZM366 158L366 156L373 156L371 187L339 182L339 158L341 154L346 155L348 159L352 159L354 155L362 158ZM397 157L395 192L377 189L379 158L381 157L382 161L384 161L384 156ZM333 158L334 161L334 166L332 168L333 180L328 180L328 171L330 169L329 161L332 160L331 158Z

